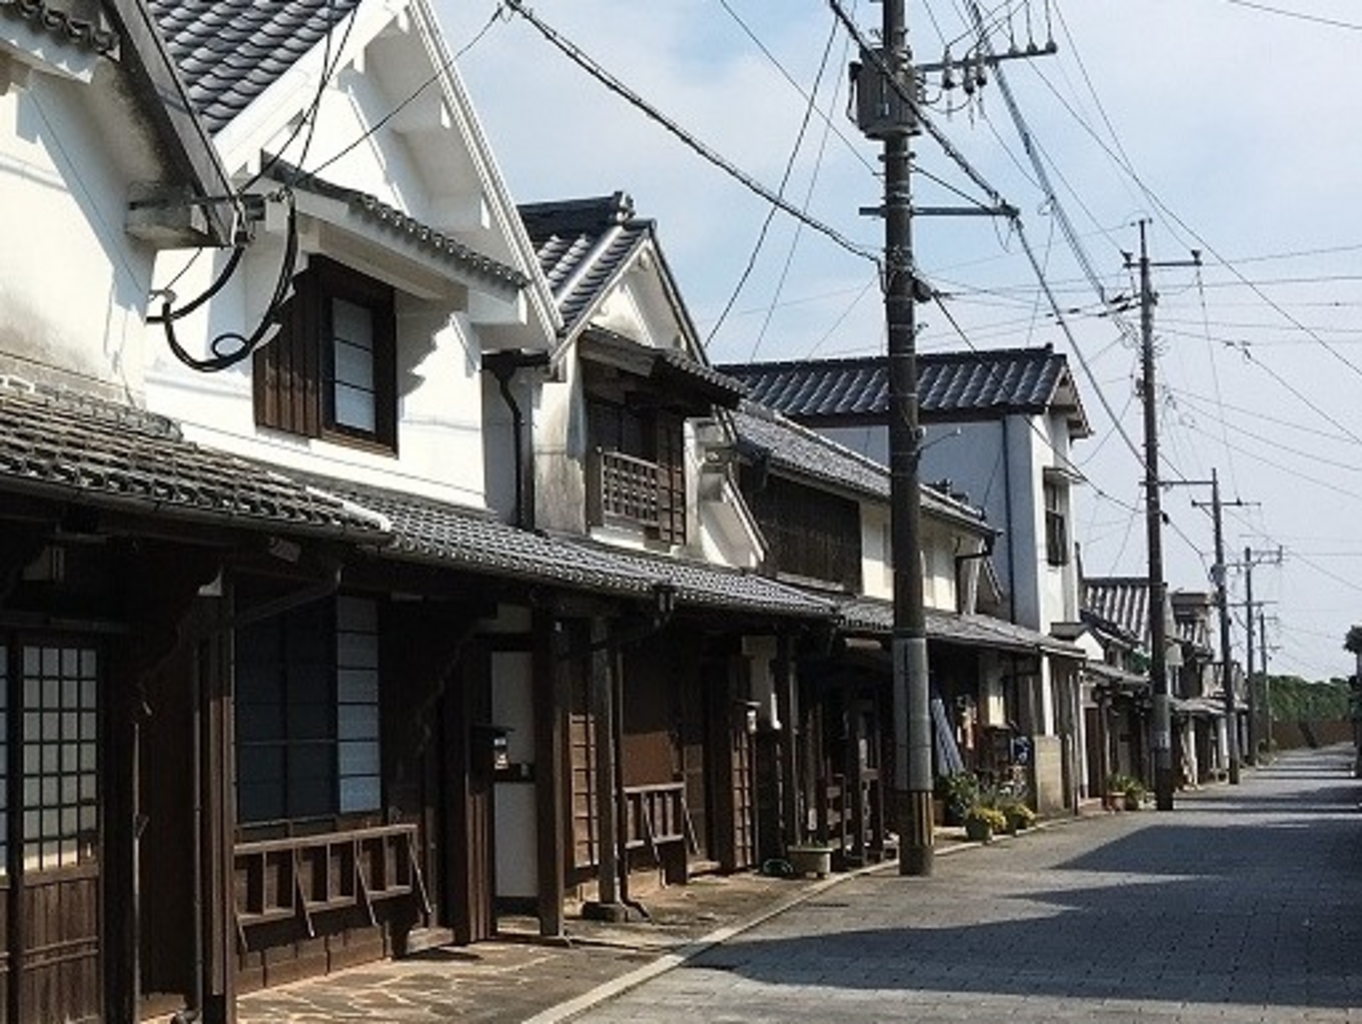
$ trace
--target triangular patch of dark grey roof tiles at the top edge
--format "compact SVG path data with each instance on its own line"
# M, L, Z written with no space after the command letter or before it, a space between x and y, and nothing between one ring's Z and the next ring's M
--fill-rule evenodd
M360 5L360 0L148 0L189 99L210 132Z

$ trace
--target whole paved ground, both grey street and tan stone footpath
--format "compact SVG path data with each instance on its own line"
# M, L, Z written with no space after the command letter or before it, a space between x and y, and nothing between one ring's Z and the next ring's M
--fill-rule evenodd
M1173 814L938 847L929 880L701 878L644 897L652 922L572 921L558 946L504 922L509 941L242 997L240 1020L1362 1024L1350 758L1290 756Z

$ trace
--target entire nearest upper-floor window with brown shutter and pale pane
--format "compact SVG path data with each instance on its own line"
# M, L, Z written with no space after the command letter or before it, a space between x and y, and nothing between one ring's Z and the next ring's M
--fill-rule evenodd
M396 449L392 289L323 256L294 279L279 334L255 357L256 422Z

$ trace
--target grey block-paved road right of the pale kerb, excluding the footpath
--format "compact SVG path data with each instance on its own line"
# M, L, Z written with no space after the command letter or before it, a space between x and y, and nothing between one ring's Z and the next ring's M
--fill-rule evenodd
M579 1020L1362 1024L1347 769L1288 756L1171 813L850 880Z

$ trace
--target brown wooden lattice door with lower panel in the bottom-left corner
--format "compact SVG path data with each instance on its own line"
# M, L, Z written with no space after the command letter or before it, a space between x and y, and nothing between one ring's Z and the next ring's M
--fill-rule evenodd
M98 1021L99 652L0 643L4 1020Z

